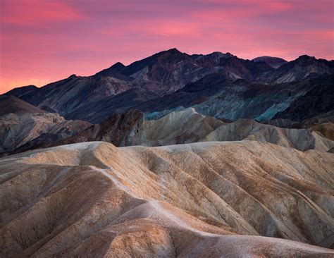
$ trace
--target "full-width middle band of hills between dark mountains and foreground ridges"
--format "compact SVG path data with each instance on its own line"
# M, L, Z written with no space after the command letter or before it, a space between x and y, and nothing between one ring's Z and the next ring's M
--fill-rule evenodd
M280 122L283 121L275 121L275 124L280 125ZM171 112L151 121L144 120L142 112L131 110L114 114L96 125L66 121L54 113L11 113L0 117L0 125L0 152L2 148L6 154L89 141L111 142L123 147L256 140L302 151L316 149L321 152L328 152L334 147L333 123L330 121L298 129L280 128L247 119L225 123L197 113L192 108Z

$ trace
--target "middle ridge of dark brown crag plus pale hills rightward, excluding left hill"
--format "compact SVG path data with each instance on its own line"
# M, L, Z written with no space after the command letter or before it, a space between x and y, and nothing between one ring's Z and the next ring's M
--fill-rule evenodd
M240 140L271 142L302 151L316 149L320 152L328 152L334 147L333 123L311 124L310 127L306 127L305 122L304 125L305 128L280 128L246 119L225 123L214 117L197 113L192 108L174 111L157 120L147 121L144 120L142 112L131 110L127 113L115 114L73 136L52 142L34 140L23 147L27 150L97 140L111 142L120 147ZM22 152L23 147L11 154Z

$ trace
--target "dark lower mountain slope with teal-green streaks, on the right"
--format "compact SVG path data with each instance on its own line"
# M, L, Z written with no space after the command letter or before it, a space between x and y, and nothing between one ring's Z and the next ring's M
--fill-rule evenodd
M232 82L215 74L138 108L151 119L193 107L206 116L232 121L238 118L256 121L293 118L301 121L334 110L333 85L334 75L309 76L302 82L268 85L245 80Z

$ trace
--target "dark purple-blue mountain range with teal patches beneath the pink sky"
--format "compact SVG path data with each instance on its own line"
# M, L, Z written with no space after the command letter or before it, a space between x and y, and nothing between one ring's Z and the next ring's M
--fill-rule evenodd
M270 120L285 111L294 116L294 106L308 105L297 102L305 94L326 104L315 106L302 119L333 109L327 103L330 96L326 97L326 92L333 92L333 76L326 79L334 73L333 61L300 56L280 61L283 64L276 68L278 61L271 57L249 61L221 52L188 55L169 49L129 66L116 63L92 76L71 75L42 88L21 87L8 94L66 119L91 123L134 108L167 113L190 106L216 118ZM318 93L325 80L330 85Z

